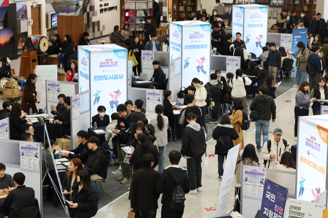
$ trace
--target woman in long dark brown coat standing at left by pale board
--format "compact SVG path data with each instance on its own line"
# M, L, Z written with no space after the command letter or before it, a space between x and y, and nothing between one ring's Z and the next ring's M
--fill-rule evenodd
M25 88L22 98L22 110L30 111L32 109L33 113L38 113L35 103L39 104L40 100L36 99L35 83L37 81L37 76L35 74L30 74L25 82Z

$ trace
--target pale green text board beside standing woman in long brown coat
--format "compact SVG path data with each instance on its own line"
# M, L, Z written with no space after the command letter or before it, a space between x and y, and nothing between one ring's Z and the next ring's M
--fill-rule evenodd
M39 104L36 104L36 108L45 110L47 106L46 94L48 93L46 89L46 80L57 80L57 65L36 65L35 75L37 76L35 84L36 99L40 101ZM58 102L58 100L56 102Z

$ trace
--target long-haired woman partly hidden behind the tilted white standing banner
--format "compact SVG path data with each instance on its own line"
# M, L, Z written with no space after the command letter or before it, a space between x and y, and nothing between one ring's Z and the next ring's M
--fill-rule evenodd
M242 184L242 181L240 180L241 165L259 167L260 163L258 161L259 159L256 155L255 146L253 146L253 144L248 144L247 146L245 146L245 149L242 152L241 157L239 156L237 158L236 171L235 171L236 174L235 196L238 195L238 199L235 200L234 211L240 212L240 191L241 191L240 187Z

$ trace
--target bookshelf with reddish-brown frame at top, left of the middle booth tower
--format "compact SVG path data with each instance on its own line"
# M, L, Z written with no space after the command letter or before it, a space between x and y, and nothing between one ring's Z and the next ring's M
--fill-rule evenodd
M146 17L153 19L153 2L146 1L120 1L120 30L125 23L128 23L129 29L133 29L133 34L138 36L140 43L144 41L144 25Z

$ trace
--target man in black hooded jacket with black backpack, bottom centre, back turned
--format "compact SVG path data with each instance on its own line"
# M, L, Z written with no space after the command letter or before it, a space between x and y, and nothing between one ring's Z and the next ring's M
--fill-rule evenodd
M170 165L164 169L157 179L156 191L162 195L161 217L181 218L185 210L185 195L190 191L190 180L187 171L179 167L181 153L171 151ZM172 197L179 195L178 201Z

